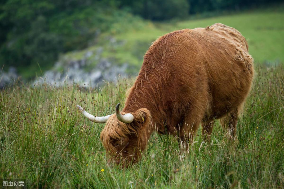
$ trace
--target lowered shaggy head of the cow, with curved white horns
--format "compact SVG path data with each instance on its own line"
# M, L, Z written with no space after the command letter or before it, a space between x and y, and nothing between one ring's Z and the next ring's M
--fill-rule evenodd
M92 122L106 123L101 132L101 141L106 149L108 162L115 162L122 167L137 162L147 146L150 135L151 114L148 109L141 108L135 112L125 113L119 111L118 103L115 114L96 117L77 106Z

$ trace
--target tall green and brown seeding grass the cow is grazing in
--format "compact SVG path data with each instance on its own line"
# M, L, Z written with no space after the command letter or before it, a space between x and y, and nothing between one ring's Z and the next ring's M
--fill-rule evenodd
M155 133L141 160L122 170L106 164L104 124L89 122L75 105L112 114L132 80L101 90L11 86L0 91L0 178L26 178L29 188L283 188L283 80L283 65L256 66L235 141L218 121L212 143L202 143L199 129L188 152Z

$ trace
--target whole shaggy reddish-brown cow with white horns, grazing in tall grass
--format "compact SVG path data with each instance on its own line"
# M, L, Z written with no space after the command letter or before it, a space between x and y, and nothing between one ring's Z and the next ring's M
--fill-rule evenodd
M124 109L89 120L103 123L101 141L110 161L137 162L153 131L178 135L188 144L202 124L211 135L212 121L226 116L235 136L240 107L254 76L246 39L224 24L183 29L158 38L144 56Z

